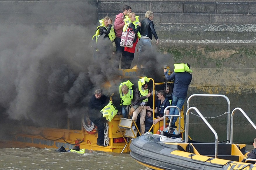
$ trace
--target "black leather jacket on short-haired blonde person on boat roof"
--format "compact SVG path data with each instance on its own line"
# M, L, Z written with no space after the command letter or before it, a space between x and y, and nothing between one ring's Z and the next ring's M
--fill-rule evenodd
M141 35L149 37L152 40L152 34L154 35L155 39L158 40L157 33L154 28L154 23L148 18L143 19L141 22Z

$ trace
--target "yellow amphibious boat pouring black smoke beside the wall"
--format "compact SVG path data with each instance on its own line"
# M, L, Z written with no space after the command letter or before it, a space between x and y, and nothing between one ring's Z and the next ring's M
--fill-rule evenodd
M121 76L118 76L113 82L105 83L102 88L107 91L111 85L119 85L120 82L126 80L134 80L137 82L139 78L137 76L138 69L125 69L120 70ZM152 78L150 83L152 87L155 85L163 85L164 83L155 83ZM115 90L115 91L114 91ZM118 93L118 88L115 88L112 92ZM155 99L155 94L153 95ZM117 99L120 101L120 97ZM154 102L155 103L155 102ZM120 104L120 103L119 103ZM98 146L97 143L97 127L94 126L92 121L88 117L81 117L78 121L72 121L69 118L66 119L66 128L58 128L56 124L52 127L36 127L36 126L13 126L11 132L0 137L0 148L26 148L26 147L36 147L36 148L59 148L64 146L65 149L71 149L73 146L78 145L80 148L92 149L98 151L115 152L115 153L125 153L129 152L129 146L127 146L127 141L129 137L124 137L125 128L120 128L120 119L122 114L115 115L111 121L108 121L105 135L104 146ZM73 124L76 123L80 128L72 128ZM55 127L56 126L56 127ZM159 131L159 127L163 126L162 122L159 122L157 126L154 127L154 133ZM15 130L14 130L15 129ZM138 133L139 134L139 133Z

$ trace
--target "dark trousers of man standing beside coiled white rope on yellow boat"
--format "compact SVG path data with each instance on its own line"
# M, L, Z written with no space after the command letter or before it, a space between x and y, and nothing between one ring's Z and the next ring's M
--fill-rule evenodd
M100 119L93 119L93 118L90 118L90 119L98 128L97 143L98 144L104 144L104 139L105 139L105 137L104 137L104 130L105 130L104 123L105 123L106 119L104 117L101 117Z

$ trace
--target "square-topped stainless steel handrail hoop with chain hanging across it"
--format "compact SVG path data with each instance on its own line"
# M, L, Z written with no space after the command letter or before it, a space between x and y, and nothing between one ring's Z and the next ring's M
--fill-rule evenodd
M228 105L227 106L227 142L230 141L230 101L229 101L229 98L225 95L222 95L222 94L192 94L187 99L187 108L189 108L189 102L190 102L191 98L195 97L195 96L223 97L227 100L227 105ZM186 124L187 124L187 122L186 122ZM185 128L187 128L187 126Z

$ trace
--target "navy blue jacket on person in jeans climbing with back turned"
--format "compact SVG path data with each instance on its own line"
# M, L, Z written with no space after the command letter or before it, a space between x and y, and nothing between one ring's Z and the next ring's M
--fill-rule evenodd
M171 76L169 76L167 72L164 72L164 75L167 81L174 79L172 94L178 98L186 98L188 85L192 80L192 75L186 71L180 73L173 72Z

